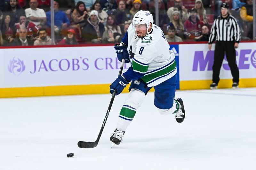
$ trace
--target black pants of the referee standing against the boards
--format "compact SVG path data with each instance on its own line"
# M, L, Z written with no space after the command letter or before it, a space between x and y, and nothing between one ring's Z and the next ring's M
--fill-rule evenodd
M220 68L226 52L228 66L230 67L233 76L233 82L239 82L239 70L236 65L236 50L234 48L234 41L216 41L214 50L214 62L212 66L212 82L219 83Z

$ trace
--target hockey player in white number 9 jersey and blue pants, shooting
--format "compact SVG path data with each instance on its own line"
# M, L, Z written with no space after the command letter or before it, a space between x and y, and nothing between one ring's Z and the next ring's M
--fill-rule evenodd
M129 54L127 51L129 49ZM154 87L154 105L162 115L174 114L177 122L185 118L183 101L174 100L176 89L176 62L174 54L160 27L153 24L149 11L137 12L120 45L116 45L119 61L131 62L131 67L110 85L110 93L116 95L132 81L129 94L120 111L116 130L110 137L114 144L120 144L136 110L148 91Z

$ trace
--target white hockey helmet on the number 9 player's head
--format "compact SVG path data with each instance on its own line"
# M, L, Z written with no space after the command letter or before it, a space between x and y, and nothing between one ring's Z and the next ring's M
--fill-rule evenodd
M132 18L132 24L133 25L146 24L147 25L147 32L148 32L150 22L153 25L154 19L153 19L152 14L149 11L140 10Z

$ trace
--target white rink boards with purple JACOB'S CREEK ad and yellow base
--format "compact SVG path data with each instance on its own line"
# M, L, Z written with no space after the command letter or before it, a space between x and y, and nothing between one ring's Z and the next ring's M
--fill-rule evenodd
M177 89L208 89L214 55L208 44L171 44L170 49L178 65ZM256 87L255 42L240 43L236 61L239 86ZM120 65L112 45L0 48L0 97L108 93ZM220 78L219 88L231 87L226 60Z

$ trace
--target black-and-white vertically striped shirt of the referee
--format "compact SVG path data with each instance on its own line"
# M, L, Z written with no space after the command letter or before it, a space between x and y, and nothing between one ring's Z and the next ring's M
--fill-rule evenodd
M213 21L211 35L209 37L209 44L216 41L235 41L239 42L241 33L236 18L228 15L222 18L221 15Z

